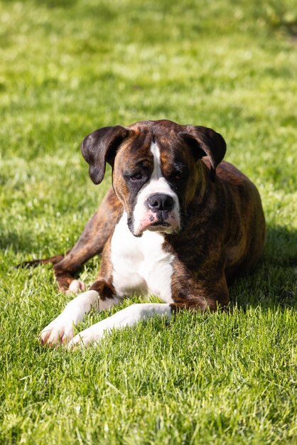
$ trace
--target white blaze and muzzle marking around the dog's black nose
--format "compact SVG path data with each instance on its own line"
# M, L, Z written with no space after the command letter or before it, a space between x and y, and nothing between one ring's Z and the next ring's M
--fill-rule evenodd
M160 150L155 142L151 143L151 153L153 154L153 173L146 186L141 189L136 198L134 207L134 235L141 235L144 230L172 233L180 229L180 206L178 196L169 186L161 170ZM173 198L173 210L168 213L166 223L169 227L152 226L158 222L156 212L148 209L146 201L148 196L155 193L163 193Z

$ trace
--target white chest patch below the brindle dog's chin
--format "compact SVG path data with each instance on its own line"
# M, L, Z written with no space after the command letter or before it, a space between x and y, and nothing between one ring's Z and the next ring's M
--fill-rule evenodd
M118 296L156 295L171 303L173 254L162 248L163 235L146 231L134 237L127 225L126 213L112 236L111 260L113 285Z

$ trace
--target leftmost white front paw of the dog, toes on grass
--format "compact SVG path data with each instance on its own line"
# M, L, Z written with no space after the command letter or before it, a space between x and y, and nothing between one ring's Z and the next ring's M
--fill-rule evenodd
M54 346L68 343L73 334L72 320L61 314L41 331L39 337L42 345Z

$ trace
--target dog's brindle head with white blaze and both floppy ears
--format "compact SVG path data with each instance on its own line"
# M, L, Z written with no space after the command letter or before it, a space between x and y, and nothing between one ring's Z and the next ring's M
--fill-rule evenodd
M161 120L97 129L85 137L81 149L95 184L104 178L106 163L112 166L114 191L129 229L141 236L144 230L181 230L182 215L197 188L204 186L200 159L209 157L214 181L226 144L212 129Z

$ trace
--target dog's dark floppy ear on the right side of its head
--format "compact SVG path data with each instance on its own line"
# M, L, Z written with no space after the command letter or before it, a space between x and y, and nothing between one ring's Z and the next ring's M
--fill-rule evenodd
M183 138L194 146L197 159L208 156L210 159L210 179L215 181L215 169L226 153L226 142L220 133L211 128L187 125Z

